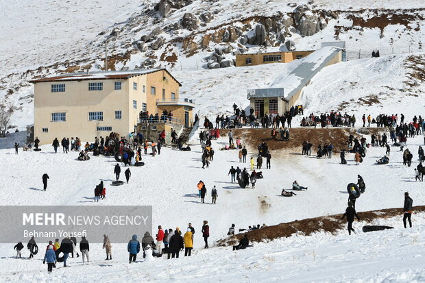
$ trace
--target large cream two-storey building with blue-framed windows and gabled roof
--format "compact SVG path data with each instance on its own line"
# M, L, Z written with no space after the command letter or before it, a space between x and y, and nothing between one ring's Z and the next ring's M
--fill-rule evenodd
M34 83L34 136L54 138L134 132L141 112L173 112L174 123L191 125L194 104L180 99L181 86L167 69L71 73Z

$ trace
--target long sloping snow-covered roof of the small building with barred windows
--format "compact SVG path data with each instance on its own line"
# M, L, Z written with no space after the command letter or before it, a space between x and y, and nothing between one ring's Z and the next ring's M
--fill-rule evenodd
M302 59L301 64L289 73L289 75L278 76L269 88L248 90L247 98L282 97L283 99L290 99L304 88L339 52L341 52L341 49L338 47L324 47L319 49ZM279 91L277 92L276 90ZM276 94L280 95L276 96Z

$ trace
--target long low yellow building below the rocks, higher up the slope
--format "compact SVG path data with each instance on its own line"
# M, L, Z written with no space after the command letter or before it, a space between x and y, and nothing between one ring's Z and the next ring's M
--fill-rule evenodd
M236 66L255 66L269 63L288 63L304 58L313 51L278 51L267 53L245 53L236 55Z

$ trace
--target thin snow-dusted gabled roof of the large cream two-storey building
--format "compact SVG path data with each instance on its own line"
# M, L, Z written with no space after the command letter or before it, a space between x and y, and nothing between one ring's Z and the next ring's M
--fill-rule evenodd
M149 73L155 73L158 71L166 71L174 80L178 82L171 73L165 68L158 69L147 69L147 70L132 70L132 71L107 71L107 72L80 72L80 73L64 73L62 75L56 75L53 77L41 77L39 79L32 79L29 82L34 84L38 82L69 82L69 81L84 81L84 80L95 80L95 79L128 79L138 75L147 75ZM179 86L182 86L178 82Z

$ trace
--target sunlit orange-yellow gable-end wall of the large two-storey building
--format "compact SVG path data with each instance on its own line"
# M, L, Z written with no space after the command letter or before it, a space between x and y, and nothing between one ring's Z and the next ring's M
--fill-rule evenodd
M164 79L166 77L167 79ZM156 88L156 95L151 94L151 86ZM165 89L165 99L171 99L171 93L175 93L175 99L179 98L180 86L173 77L166 71L162 70L155 73L150 73L147 76L147 110L149 114L160 114L156 109L156 99L162 99L162 90Z

